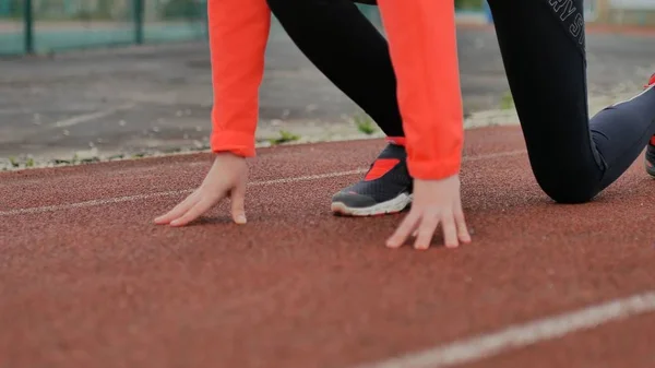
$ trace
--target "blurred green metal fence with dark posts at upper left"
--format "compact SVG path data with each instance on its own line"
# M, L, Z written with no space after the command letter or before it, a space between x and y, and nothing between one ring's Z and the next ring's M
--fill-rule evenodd
M3 55L205 37L205 0L0 0Z

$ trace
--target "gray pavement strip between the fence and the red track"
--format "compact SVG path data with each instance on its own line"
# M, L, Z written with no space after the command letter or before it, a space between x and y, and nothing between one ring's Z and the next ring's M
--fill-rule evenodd
M509 87L493 32L461 27L458 38L468 127L515 123L513 110L501 109ZM655 71L654 39L655 34L588 35L592 110L639 91ZM352 120L358 107L278 25L269 45L259 141L281 131L300 141L367 136ZM130 156L209 144L212 88L205 43L0 60L0 157ZM492 119L489 111L501 116Z

